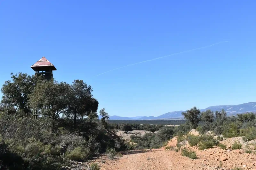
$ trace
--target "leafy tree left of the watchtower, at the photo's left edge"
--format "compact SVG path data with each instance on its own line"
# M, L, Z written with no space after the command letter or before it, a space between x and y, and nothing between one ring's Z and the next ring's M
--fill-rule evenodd
M7 107L14 107L15 113L21 116L31 114L28 105L29 94L32 93L35 84L35 76L27 73L11 73L11 80L5 81L1 91L3 93L1 104Z

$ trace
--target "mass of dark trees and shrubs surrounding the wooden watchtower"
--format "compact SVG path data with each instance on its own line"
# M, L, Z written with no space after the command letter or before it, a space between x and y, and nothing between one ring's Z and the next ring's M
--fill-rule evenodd
M63 169L69 160L86 161L98 153L130 149L108 128L92 87L41 76L12 74L0 103L0 169ZM42 117L33 120L33 114ZM65 168L64 168L65 169Z

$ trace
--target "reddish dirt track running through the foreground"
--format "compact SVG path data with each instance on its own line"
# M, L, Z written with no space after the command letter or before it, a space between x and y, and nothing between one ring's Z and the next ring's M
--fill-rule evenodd
M182 161L182 163L181 163ZM182 157L173 151L136 150L123 153L117 160L108 160L101 165L102 170L180 170L195 169L198 160ZM196 166L200 167L200 164ZM201 166L203 167L203 165Z

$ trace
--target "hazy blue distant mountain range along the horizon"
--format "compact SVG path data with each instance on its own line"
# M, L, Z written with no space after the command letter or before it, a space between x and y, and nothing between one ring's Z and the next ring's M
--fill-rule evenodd
M205 109L201 109L201 112L205 110L221 111L224 109L227 115L236 115L246 112L256 112L256 102L249 102L240 105L220 105L220 106L210 106ZM182 112L184 110L168 112L160 116L136 116L136 117L121 117L121 116L109 116L110 120L162 120L162 119L182 119Z

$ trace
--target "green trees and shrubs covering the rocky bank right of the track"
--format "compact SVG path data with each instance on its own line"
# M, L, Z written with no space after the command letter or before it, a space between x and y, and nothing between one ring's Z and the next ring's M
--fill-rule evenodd
M244 141L256 139L256 119L254 113L227 116L224 110L216 112L206 110L200 112L199 109L193 107L182 113L182 115L187 119L187 122L180 126L164 126L159 128L156 134L146 133L144 136L132 135L131 141L135 143L134 148L149 149L164 146L165 149L179 151L180 147L187 141L190 146L197 146L199 150L212 148L214 146L225 149L227 146L220 144L223 137L243 136ZM188 134L191 129L196 129L199 131L200 135ZM162 133L163 131L164 133ZM208 134L208 131L211 131L211 133ZM177 146L175 148L166 146L166 142L174 136L177 137ZM234 143L232 148L242 149L242 145ZM250 152L250 150L246 152Z

